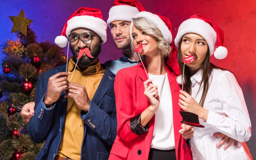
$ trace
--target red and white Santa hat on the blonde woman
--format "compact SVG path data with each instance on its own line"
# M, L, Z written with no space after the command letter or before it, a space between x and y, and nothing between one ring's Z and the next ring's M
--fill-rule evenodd
M172 24L169 18L158 15L158 14L153 14L150 12L140 12L137 15L134 16L134 18L138 17L144 17L147 18L149 21L155 24L155 26L161 31L163 38L168 42L168 44L171 46L172 50L170 52L170 56L168 60L166 61L166 64L174 71L175 74L179 75L180 74L180 68L177 63L177 50L175 48L175 45L172 41L173 39L173 34L172 34ZM133 21L131 21L131 26L130 26L130 36L132 38L132 26L133 26Z

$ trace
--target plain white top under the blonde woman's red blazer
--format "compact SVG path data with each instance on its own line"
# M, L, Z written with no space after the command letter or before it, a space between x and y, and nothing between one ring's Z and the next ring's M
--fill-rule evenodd
M148 74L152 83L157 85L160 98L159 107L155 113L155 124L151 148L170 150L175 148L172 119L172 96L167 74Z

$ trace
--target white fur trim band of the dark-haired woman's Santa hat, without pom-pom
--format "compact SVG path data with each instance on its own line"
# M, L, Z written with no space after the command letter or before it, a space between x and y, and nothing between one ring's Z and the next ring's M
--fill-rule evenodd
M198 18L190 18L182 22L174 40L177 47L179 47L181 37L186 33L197 33L202 36L209 46L210 55L213 54L216 46L217 34L209 23Z

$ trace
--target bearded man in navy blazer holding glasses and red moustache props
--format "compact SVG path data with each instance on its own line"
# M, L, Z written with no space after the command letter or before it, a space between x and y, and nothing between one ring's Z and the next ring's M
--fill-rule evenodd
M115 75L98 58L106 28L100 10L82 7L56 37L60 47L68 37L73 57L66 72L62 64L38 79L34 116L28 123L31 139L45 141L36 159L108 159L117 124Z

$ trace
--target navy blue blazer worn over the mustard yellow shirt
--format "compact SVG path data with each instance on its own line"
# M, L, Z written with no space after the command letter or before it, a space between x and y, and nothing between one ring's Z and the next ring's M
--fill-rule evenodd
M64 98L63 91L51 109L46 109L43 101L49 77L62 71L66 71L66 64L46 71L39 76L37 82L35 113L28 123L28 134L34 142L45 141L45 145L36 159L53 160L58 153L66 118L67 98ZM107 160L109 157L117 128L114 79L115 75L106 67L89 111L82 111L80 114L85 123L81 160ZM89 125L89 122L93 125Z

